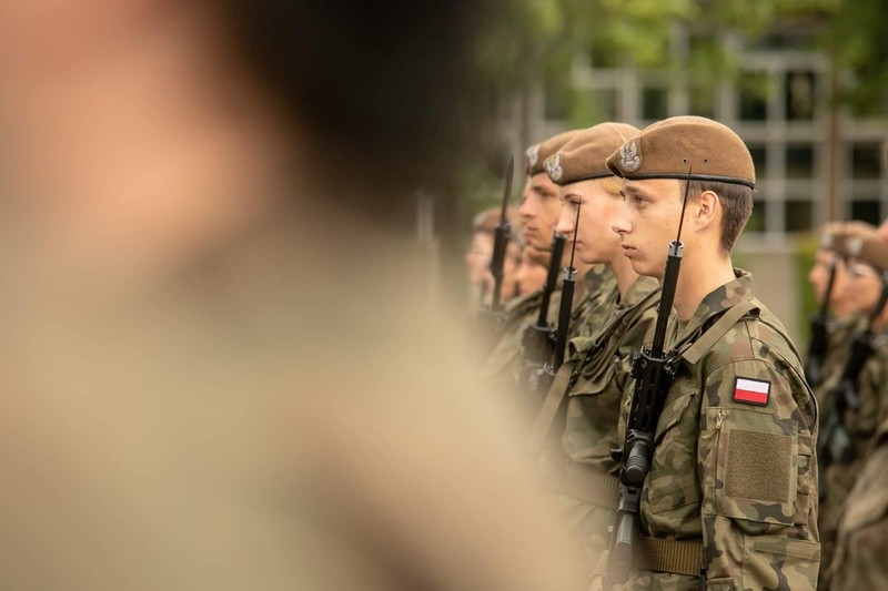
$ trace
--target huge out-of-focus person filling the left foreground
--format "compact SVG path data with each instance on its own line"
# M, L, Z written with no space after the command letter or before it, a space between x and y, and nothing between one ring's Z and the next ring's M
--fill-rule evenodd
M0 6L0 588L562 588L405 289L484 13Z

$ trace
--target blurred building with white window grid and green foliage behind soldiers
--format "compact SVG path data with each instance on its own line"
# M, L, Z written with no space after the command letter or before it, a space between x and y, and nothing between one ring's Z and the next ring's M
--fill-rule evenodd
M672 115L713 118L744 139L758 176L735 263L753 272L761 299L804 343L817 227L888 215L888 1L515 7L481 55L496 80L484 155L465 165L454 193L435 195L442 252L464 248L473 213L498 202L509 153L601 121L644 128ZM420 227L432 243L430 198L420 200Z

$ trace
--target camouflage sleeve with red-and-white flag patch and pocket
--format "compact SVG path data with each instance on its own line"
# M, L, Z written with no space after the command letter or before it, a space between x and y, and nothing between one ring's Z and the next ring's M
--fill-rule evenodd
M799 410L810 390L760 359L704 383L697 461L709 589L816 588L816 458Z

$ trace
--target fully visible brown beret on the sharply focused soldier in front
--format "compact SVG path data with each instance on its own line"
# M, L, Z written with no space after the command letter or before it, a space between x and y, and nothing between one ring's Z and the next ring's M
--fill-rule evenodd
M755 188L753 156L727 125L702 116L674 116L645 128L607 159L607 167L629 180L687 179Z

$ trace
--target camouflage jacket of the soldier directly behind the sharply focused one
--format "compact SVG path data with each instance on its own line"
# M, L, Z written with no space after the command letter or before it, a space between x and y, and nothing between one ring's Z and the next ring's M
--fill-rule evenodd
M575 351L572 357L582 358L582 363L575 385L566 393L569 398L562 436L564 461L609 475L618 471L610 458L610 448L617 446L620 400L624 395L632 395L632 389L627 388L632 355L653 335L659 284L652 277L639 277L622 300L616 282L613 289L616 297L605 297L616 304L607 310L608 322L594 327L589 337L572 342ZM607 527L614 511L572 492L556 487L553 505L566 538L579 552L577 580L585 590L595 564L607 548Z

